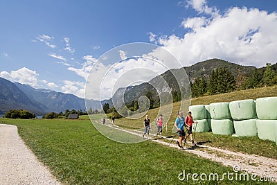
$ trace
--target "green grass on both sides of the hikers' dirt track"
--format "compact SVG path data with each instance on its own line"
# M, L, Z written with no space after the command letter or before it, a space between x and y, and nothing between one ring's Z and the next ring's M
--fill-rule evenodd
M269 96L277 96L276 89L275 86L269 89L254 89L255 91L237 91L236 94L194 98L192 105L219 100L256 99L265 97L265 92ZM180 103L175 103L172 112L177 113L179 106ZM150 118L156 118L157 112L157 109L151 109L148 114ZM100 122L102 115L96 114L91 118ZM168 130L164 128L163 135L174 135L172 125L175 118L176 115L172 114ZM267 184L229 181L227 177L223 181L193 181L193 173L217 173L222 177L224 173L233 173L233 168L152 141L133 144L112 141L96 130L88 116L80 116L79 120L0 118L0 122L17 125L19 135L26 145L62 184ZM120 127L136 129L142 127L143 118L133 121L121 118L116 119L115 123ZM197 133L195 140L208 146L277 159L276 143L262 141L258 136L232 137L206 132ZM186 175L190 173L190 176L188 180L185 178L181 181L178 175L184 170Z

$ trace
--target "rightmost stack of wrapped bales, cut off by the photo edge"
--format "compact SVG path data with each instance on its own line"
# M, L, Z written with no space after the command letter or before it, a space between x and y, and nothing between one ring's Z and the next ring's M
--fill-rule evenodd
M256 110L258 116L256 126L259 138L277 143L277 97L258 98Z

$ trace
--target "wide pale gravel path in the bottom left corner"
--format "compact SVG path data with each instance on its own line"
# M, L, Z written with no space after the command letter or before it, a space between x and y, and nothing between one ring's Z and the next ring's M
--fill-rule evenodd
M15 125L0 124L0 184L60 184L26 147Z

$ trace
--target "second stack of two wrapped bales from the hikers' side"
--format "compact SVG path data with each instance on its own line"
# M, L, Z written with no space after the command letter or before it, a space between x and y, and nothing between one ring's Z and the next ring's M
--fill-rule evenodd
M211 103L208 106L211 114L211 129L213 134L233 134L233 121L229 103Z

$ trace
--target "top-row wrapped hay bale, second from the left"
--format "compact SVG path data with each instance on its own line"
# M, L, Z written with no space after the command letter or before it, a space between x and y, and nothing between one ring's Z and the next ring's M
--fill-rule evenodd
M229 103L211 103L209 109L212 119L231 119Z

